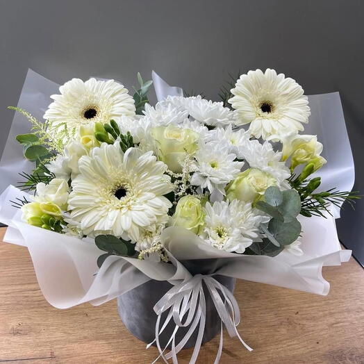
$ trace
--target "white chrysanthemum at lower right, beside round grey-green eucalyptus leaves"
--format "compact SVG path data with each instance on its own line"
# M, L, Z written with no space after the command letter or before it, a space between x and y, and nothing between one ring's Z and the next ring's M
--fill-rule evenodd
M260 222L265 217L256 215L251 204L243 201L215 201L205 207L206 217L201 238L217 249L244 253L254 241L261 241Z

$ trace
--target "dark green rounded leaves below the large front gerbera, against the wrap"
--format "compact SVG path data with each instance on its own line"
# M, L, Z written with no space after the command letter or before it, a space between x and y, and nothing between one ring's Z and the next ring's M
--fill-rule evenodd
M129 256L131 258L138 257L138 251L135 251L135 245L133 245L130 241L117 238L114 235L97 235L94 242L100 250L106 251L106 254L102 254L97 259L98 267L101 267L108 256L116 255Z

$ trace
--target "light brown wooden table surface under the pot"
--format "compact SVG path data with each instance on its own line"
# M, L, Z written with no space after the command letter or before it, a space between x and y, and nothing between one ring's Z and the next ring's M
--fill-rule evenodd
M2 240L5 229L0 229ZM238 281L240 334L225 332L220 363L364 363L364 271L351 258L324 267L327 297ZM218 338L197 363L213 363ZM188 363L192 349L181 351ZM126 330L116 301L58 310L45 301L25 247L0 243L0 363L151 363L154 347Z

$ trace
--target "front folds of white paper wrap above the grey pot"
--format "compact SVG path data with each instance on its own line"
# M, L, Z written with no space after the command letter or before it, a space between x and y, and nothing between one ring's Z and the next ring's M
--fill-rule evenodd
M220 258L215 274L327 295L329 283L322 277L322 266L340 265L351 255L340 248L333 217L300 217L302 256L287 251L274 258L227 253L192 233L175 233L171 227L165 229L163 243L172 264L109 256L98 270L97 258L103 251L92 242L22 222L19 209L8 207L6 201L23 196L24 192L10 186L0 197L0 220L9 225L4 241L28 247L42 293L57 308L86 301L103 304L149 279L180 283L191 275L179 260L197 258Z

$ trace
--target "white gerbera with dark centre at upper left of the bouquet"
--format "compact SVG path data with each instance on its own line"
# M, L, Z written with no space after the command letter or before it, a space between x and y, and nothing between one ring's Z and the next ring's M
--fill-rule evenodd
M121 115L134 115L133 97L128 90L114 80L97 81L95 78L83 82L72 78L60 86L60 94L51 95L54 101L44 113L51 122L51 132L56 133L67 126L76 133L78 126L94 122L106 123Z

